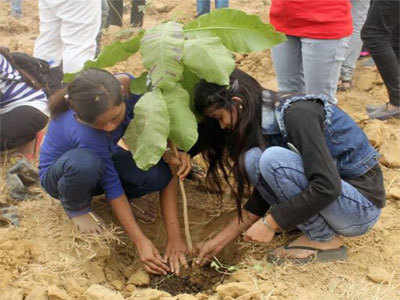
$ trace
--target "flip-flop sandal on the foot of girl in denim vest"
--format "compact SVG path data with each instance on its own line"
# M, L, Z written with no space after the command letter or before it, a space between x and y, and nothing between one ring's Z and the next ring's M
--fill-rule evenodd
M281 265L285 262L292 262L297 265L303 265L310 262L332 262L338 260L346 260L347 259L347 247L341 246L336 249L329 249L329 250L321 250L314 247L307 247L307 246L284 246L285 250L291 249L302 249L302 250L312 250L316 251L315 254L312 254L305 258L295 258L295 257L277 257L273 254L269 254L267 261L270 263L274 263L277 265Z

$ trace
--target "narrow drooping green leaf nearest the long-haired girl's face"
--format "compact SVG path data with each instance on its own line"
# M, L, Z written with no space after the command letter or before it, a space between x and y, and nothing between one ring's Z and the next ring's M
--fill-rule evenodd
M190 110L188 92L177 84L175 88L163 91L169 112L169 139L178 148L189 151L198 138L196 118Z

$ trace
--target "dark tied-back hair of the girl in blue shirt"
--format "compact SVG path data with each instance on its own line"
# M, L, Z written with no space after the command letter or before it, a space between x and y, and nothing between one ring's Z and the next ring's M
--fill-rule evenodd
M70 108L82 121L92 124L96 118L122 102L121 84L111 73L101 69L88 69L74 81L56 92L50 99L52 119Z

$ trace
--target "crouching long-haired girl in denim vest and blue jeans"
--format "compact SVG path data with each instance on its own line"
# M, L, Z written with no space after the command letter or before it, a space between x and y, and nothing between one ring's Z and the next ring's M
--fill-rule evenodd
M379 154L356 123L324 95L278 94L235 70L230 86L202 81L195 94L204 116L201 139L208 177L217 169L236 179L238 217L200 245L203 265L225 245L245 239L269 243L276 232L303 233L269 260L344 259L340 236L359 236L385 204ZM246 186L254 193L241 211Z

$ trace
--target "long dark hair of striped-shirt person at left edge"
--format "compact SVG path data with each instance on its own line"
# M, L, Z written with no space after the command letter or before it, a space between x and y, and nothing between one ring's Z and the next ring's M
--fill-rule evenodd
M5 47L0 47L0 54L20 73L21 81L34 89L43 89L48 96L50 95L51 92L47 84L50 66L46 61L34 58L26 53L10 52Z

